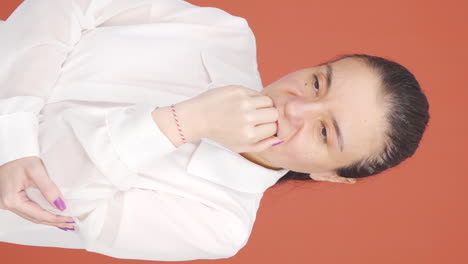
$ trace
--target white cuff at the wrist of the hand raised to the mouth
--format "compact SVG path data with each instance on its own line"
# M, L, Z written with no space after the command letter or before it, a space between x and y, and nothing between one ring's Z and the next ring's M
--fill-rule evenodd
M154 104L66 110L62 117L73 129L96 168L119 190L128 190L138 173L176 147L152 117Z

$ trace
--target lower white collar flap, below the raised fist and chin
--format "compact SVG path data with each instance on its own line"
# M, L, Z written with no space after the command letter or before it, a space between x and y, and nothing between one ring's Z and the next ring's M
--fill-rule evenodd
M187 165L190 174L248 193L265 192L288 171L265 168L208 138L200 140Z

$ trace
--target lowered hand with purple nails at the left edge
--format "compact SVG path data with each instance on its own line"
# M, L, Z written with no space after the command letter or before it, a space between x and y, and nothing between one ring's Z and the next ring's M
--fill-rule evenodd
M16 159L0 166L0 209L9 210L37 224L52 225L62 230L73 228L70 224L73 218L55 215L31 201L25 192L29 186L37 187L55 208L65 210L63 195L50 180L42 160L36 156Z

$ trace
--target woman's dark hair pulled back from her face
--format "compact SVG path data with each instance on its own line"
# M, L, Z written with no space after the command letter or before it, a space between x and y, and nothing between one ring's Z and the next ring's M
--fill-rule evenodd
M414 75L402 65L389 59L366 54L345 54L321 63L333 63L345 58L359 58L379 75L388 105L386 141L380 154L361 159L336 169L345 178L376 175L411 157L419 146L429 121L429 103ZM308 173L289 171L275 185L288 180L313 180Z

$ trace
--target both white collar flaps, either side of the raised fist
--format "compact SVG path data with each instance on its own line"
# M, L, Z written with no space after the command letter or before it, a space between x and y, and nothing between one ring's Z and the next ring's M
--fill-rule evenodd
M242 85L259 92L263 89L257 70L253 36L251 41L251 46L237 51L239 53L216 47L201 51L203 64L211 80L207 89L226 85ZM200 140L187 166L190 174L249 193L265 192L288 171L271 170L253 163L209 138Z

